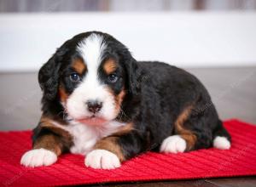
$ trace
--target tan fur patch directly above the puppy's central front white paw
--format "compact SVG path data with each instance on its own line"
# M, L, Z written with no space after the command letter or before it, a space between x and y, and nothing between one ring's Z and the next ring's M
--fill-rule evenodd
M96 150L108 150L113 152L116 156L119 157L119 161L125 161L125 156L117 143L118 137L106 137L104 139L99 140L94 149Z

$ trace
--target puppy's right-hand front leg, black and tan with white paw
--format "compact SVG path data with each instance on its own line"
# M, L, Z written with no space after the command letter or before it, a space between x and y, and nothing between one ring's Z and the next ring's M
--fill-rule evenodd
M145 150L143 135L131 130L116 133L98 141L85 158L87 167L113 169L120 167L122 161L136 156Z

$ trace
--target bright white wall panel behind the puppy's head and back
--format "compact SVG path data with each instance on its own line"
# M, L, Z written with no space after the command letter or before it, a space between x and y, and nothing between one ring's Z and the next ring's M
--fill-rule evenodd
M256 65L253 12L0 14L0 71L34 71L84 31L106 31L136 59L182 67Z

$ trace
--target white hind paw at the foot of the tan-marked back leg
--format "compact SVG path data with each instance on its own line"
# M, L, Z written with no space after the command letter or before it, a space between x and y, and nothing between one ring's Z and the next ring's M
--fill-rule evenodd
M160 146L160 152L177 153L186 150L186 141L179 135L169 136Z

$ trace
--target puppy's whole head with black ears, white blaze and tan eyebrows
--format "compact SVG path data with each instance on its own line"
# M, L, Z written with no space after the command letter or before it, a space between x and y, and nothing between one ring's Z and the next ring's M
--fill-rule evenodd
M125 95L137 94L137 65L113 37L86 32L58 48L38 80L43 105L59 102L73 120L97 125L119 115Z

